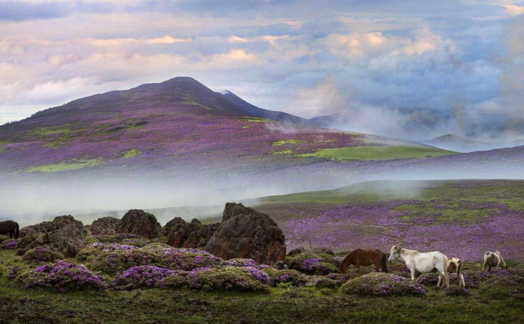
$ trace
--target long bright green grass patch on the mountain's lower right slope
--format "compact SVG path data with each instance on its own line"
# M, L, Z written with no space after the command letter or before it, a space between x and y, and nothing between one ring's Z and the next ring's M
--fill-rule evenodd
M327 158L335 161L344 160L391 160L438 157L441 155L457 154L431 147L409 146L356 146L334 149L320 149L313 153L297 154L301 158Z

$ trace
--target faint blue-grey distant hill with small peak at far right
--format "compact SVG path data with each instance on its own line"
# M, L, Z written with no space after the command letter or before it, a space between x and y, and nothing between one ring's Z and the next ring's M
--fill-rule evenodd
M515 140L508 142L479 142L467 140L465 138L453 134L447 134L429 141L422 141L422 143L444 150L451 150L456 152L474 152L522 146L524 145L524 140Z

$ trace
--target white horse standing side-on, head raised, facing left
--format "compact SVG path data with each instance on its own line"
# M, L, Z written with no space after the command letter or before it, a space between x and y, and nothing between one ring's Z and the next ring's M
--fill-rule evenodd
M444 278L446 288L450 286L450 276L447 274L447 257L444 254L438 251L419 252L393 245L389 255L389 262L393 262L397 258L405 263L411 271L411 280L413 282L417 281L420 274L436 270Z

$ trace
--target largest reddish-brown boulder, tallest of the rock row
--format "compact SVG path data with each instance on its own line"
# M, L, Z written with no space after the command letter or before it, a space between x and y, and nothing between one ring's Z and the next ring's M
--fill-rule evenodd
M242 204L227 203L222 222L204 250L223 259L253 259L274 264L286 256L282 230L268 215Z

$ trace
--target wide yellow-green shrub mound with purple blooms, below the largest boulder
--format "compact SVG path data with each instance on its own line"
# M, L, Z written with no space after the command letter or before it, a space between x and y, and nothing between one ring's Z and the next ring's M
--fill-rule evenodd
M252 267L201 267L188 272L186 279L192 288L268 292L269 276Z

